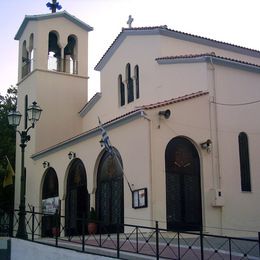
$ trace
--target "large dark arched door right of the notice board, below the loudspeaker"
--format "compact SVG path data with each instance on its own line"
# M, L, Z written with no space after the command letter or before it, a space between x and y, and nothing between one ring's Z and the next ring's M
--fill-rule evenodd
M200 161L195 146L173 138L165 150L167 228L202 228Z

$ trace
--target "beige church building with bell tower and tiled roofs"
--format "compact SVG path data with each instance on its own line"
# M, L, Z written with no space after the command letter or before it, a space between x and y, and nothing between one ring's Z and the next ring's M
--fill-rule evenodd
M88 99L92 30L61 11L25 16L15 36L17 110L34 101L42 109L25 151L26 209L44 213L54 201L73 234L91 207L109 232L155 221L260 231L260 51L130 23L97 61L101 91ZM42 236L50 223L43 217Z

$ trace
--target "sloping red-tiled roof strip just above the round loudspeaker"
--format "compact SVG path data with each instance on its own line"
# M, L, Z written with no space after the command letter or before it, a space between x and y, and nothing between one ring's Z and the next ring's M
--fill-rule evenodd
M207 95L207 94L209 94L208 91L198 91L198 92L194 92L194 93L187 94L187 95L184 95L184 96L180 96L180 97L177 97L177 98L172 98L172 99L169 99L169 100L164 100L164 101L161 101L161 102L140 106L140 107L137 107L137 109L144 109L144 110L145 109L154 109L154 108L158 108L158 107L167 106L167 105L170 105L170 104L186 101L186 100L189 100L189 99L192 99L192 98L204 96L204 95Z

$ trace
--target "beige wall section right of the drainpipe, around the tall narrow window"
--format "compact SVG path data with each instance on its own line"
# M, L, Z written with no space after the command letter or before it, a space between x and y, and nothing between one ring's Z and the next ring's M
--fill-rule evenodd
M258 73L215 66L216 100L219 103L243 104L259 100ZM259 103L217 105L221 186L225 197L223 226L259 230ZM249 141L251 192L241 191L238 135L246 132Z

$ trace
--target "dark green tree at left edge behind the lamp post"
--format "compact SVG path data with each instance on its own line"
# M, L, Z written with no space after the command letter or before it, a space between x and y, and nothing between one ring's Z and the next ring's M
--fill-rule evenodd
M15 168L15 129L8 124L7 115L15 110L17 88L11 86L5 96L0 93L0 209L13 208L14 185L3 188L3 180L7 174L8 157L13 169Z

